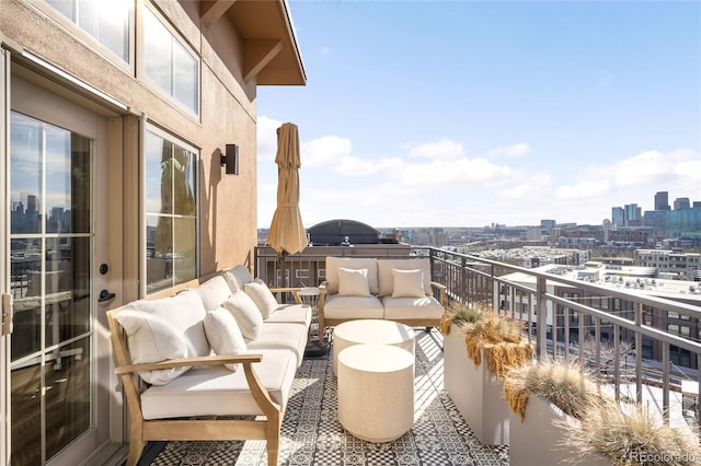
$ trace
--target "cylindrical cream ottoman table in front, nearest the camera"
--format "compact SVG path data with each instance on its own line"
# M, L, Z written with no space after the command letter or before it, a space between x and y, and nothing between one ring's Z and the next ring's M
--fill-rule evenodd
M338 421L368 442L389 442L414 423L414 356L387 345L338 353Z

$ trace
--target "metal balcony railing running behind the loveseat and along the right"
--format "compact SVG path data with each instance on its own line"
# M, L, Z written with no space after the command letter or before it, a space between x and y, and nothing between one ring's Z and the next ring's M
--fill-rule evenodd
M325 279L326 256L428 257L432 280L446 286L451 302L493 307L524 321L538 357L586 362L619 400L628 397L622 384L634 384L637 403L644 388L655 387L669 420L670 393L681 392L682 381L691 382L692 392L681 394L682 415L698 424L701 306L435 247L402 246L313 246L288 256L262 246L255 249L255 272L276 287L318 286ZM690 328L689 338L667 331L673 315Z

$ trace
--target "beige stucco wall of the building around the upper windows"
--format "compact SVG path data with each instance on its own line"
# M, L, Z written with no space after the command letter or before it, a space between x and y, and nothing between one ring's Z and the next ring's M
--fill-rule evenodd
M77 26L61 21L42 2L34 3L0 0L2 42L15 50L31 50L125 103L131 115L146 114L149 121L199 148L200 273L248 263L256 244L257 224L255 82L244 83L241 78L240 40L226 16L200 33L193 21L196 2L156 2L200 56L202 110L197 120L137 79L138 67L135 73L135 67L108 60ZM48 15L36 7L42 4ZM219 150L226 143L239 144L238 176L223 174L219 166ZM136 186L136 179L124 183Z

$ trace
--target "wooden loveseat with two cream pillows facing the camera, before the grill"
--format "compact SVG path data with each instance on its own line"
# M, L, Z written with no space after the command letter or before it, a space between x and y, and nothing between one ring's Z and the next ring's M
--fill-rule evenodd
M428 258L326 257L319 308L325 327L359 318L382 318L410 327L438 327L446 287L430 280ZM436 298L437 296L437 298Z

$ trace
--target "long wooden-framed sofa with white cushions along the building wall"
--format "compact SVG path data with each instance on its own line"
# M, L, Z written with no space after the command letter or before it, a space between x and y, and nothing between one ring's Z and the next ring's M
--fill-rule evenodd
M127 465L157 440L266 440L280 424L307 345L311 308L243 266L107 312L130 418ZM176 292L176 294L173 294ZM280 305L275 292L291 292Z

